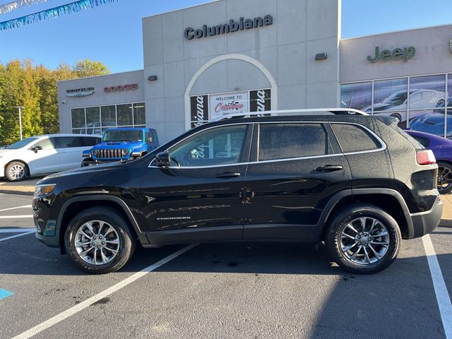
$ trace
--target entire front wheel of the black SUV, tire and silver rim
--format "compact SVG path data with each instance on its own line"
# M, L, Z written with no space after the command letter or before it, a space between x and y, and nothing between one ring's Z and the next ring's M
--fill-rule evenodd
M64 237L69 258L88 273L119 270L131 258L136 244L129 223L108 207L78 213Z

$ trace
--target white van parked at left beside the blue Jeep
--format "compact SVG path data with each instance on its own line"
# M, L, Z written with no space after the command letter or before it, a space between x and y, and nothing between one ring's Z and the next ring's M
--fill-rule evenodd
M19 182L26 177L80 167L83 150L100 143L101 136L48 134L31 136L0 150L0 177Z

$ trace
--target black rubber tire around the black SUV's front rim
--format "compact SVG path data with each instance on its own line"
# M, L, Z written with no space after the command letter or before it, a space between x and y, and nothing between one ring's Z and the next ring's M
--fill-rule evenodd
M92 264L83 260L76 250L76 233L82 225L90 220L101 220L114 227L119 236L119 249L112 261L105 264ZM69 223L64 235L66 253L75 265L88 273L105 274L119 270L133 255L136 246L136 238L131 232L128 220L109 207L93 207L78 213Z

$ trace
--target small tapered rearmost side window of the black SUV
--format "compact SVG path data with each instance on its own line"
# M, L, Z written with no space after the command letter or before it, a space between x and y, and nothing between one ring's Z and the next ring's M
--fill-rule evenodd
M381 144L374 136L360 126L350 124L331 124L343 153L378 150Z

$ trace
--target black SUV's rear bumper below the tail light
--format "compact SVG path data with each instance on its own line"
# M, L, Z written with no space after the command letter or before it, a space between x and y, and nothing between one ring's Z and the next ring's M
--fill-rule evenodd
M410 219L412 223L412 230L408 234L409 239L423 237L425 234L429 234L436 227L438 227L441 221L441 215L443 214L443 202L441 198L436 198L431 210L422 213L410 213Z

